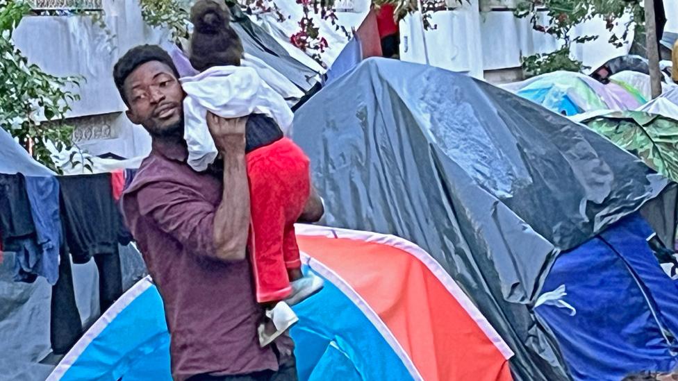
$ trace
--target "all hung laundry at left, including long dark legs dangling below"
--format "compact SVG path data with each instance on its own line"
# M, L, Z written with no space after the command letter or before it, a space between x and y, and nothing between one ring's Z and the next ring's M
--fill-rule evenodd
M117 200L135 170L78 176L0 174L0 257L13 253L13 278L52 285L50 341L65 353L80 337L83 321L74 294L71 263L94 259L99 272L99 310L123 293L119 244L124 228ZM70 255L69 255L70 254Z

